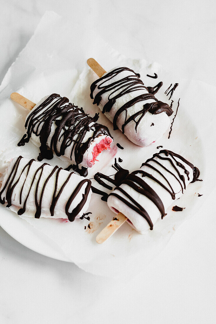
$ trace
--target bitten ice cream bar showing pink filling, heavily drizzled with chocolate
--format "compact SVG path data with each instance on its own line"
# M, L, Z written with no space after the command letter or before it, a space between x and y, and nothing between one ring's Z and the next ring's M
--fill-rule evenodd
M42 98L29 112L27 132L18 146L31 139L40 146L39 161L51 159L54 152L60 158L65 156L76 164L92 167L98 154L113 142L108 128L98 124L97 119L98 114L92 118L83 108L69 103L68 98L54 93Z

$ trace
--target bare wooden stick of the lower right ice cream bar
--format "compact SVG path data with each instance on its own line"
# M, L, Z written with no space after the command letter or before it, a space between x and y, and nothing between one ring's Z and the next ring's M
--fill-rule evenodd
M117 220L116 220L117 218ZM96 242L99 244L104 243L110 236L112 236L121 225L123 225L127 220L125 215L119 213L116 217L109 222L109 224L102 229L102 231L97 235Z

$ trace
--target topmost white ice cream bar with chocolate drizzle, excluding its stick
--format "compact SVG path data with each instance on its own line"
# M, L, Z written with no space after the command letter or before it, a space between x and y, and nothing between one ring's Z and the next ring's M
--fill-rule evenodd
M173 113L168 104L149 93L140 75L128 67L114 68L93 82L90 97L113 122L114 130L121 130L140 146L159 139Z

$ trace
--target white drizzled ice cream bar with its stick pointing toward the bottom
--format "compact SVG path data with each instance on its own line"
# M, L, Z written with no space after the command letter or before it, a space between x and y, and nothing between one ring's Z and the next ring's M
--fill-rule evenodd
M184 157L161 150L122 179L109 194L107 203L114 213L125 215L127 222L143 234L153 229L159 217L163 219L165 210L198 177L199 169Z

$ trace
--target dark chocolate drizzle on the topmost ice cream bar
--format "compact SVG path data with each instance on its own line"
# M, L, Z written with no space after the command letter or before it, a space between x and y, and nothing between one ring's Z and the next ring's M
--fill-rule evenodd
M130 71L131 75L122 77L120 80L112 82L112 79L123 71ZM93 104L99 105L103 94L111 91L108 95L108 102L103 106L103 114L105 112L109 112L116 103L116 100L120 97L135 91L140 91L141 94L139 96L136 96L135 98L132 98L131 100L125 102L125 104L123 104L123 106L121 106L116 111L113 117L114 130L118 129L117 120L120 114L122 113L125 113L125 120L121 126L122 133L124 133L125 126L130 121L133 121L135 123L135 130L137 132L137 127L147 111L149 111L152 114L159 114L165 112L168 116L171 116L173 113L172 109L169 107L168 104L158 101L153 94L147 92L147 87L144 86L142 80L139 78L140 75L135 73L133 70L127 67L119 67L108 72L106 75L103 75L91 85L90 97L94 99ZM93 92L96 88L99 90L99 92L94 97ZM141 110L135 112L127 119L127 113L128 110L131 109L131 107L133 107L138 102L143 102L149 99L153 99L154 102L144 104Z

